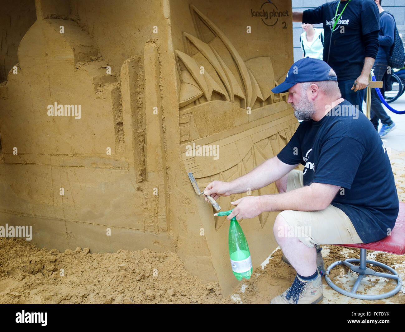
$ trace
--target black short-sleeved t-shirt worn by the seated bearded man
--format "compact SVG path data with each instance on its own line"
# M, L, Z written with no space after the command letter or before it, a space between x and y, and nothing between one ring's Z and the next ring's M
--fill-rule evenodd
M344 100L320 121L300 123L277 157L288 165L305 166L304 186L341 186L331 204L345 212L360 239L369 243L392 230L399 200L381 138L370 120L350 107Z

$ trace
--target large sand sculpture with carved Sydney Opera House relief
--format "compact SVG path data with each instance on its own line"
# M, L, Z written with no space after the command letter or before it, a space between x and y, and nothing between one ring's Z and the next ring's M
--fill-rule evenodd
M294 133L287 95L271 92L293 63L291 2L35 8L0 86L2 224L30 225L32 241L61 251L176 252L230 292L228 221L187 173L202 189L232 180ZM273 192L246 188L219 203ZM241 222L254 268L276 247L276 214Z

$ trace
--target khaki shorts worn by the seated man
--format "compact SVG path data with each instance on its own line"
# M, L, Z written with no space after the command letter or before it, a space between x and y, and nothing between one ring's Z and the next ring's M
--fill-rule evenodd
M303 172L293 169L288 173L287 191L304 186ZM363 243L349 217L339 208L329 204L324 210L280 212L292 228L279 229L279 236L298 237L308 247L314 244Z

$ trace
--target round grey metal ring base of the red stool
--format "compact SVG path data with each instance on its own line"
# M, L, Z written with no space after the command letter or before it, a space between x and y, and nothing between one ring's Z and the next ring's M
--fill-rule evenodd
M358 298L360 300L381 300L382 298L388 298L388 297L393 296L396 293L398 293L402 287L402 280L401 280L401 277L398 275L398 273L394 269L392 269L390 266L380 263L380 262L375 262L374 260L366 260L366 257L367 257L367 250L360 248L360 259L349 258L346 260L338 260L337 262L330 264L330 266L326 270L326 275L325 275L325 280L328 283L328 285L331 288L333 288L335 291L337 291L343 295L346 295L346 296L349 296L352 298ZM351 264L352 262L360 263L360 266ZM335 266L340 265L340 264L343 264L343 265L349 267L352 271L359 274L356 282L354 283L354 286L353 286L351 292L347 292L347 290L343 290L342 288L337 287L337 285L335 285L329 278L330 270L332 270ZM367 268L366 264L373 264L374 266L379 266L379 267L389 271L390 273L375 272L374 270ZM358 289L358 286L360 285L361 280L363 278L365 278L367 275L374 275L376 277L395 279L396 287L393 290L390 290L389 292L383 293L383 294L377 294L377 295L357 294L357 289Z

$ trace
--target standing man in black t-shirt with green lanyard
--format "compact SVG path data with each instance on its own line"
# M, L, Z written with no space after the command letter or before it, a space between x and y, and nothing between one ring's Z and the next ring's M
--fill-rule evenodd
M335 70L342 97L362 111L364 88L379 46L379 12L375 2L327 2L318 8L293 12L292 20L324 25L323 60Z

